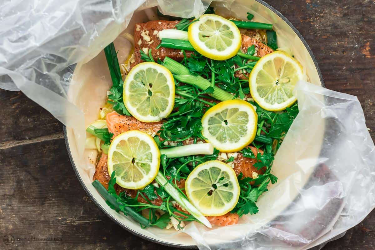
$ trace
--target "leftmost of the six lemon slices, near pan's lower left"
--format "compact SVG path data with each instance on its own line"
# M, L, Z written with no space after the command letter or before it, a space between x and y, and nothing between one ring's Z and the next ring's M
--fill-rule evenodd
M156 177L160 151L154 139L139 130L117 135L108 150L108 173L126 189L142 189Z

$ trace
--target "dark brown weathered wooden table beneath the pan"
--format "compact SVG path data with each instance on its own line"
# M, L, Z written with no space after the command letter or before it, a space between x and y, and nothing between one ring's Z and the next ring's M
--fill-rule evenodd
M374 139L375 2L268 2L305 37L326 87L358 96ZM51 114L20 92L0 90L0 105L0 249L173 249L133 236L93 204ZM373 212L324 249L375 249L374 222ZM6 246L5 234L15 243Z

